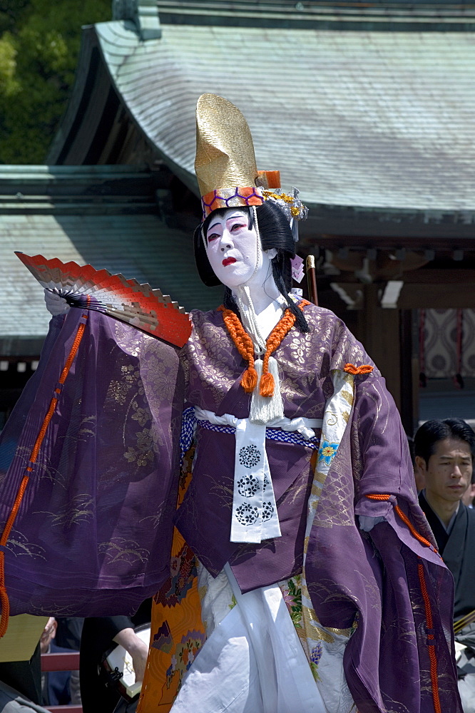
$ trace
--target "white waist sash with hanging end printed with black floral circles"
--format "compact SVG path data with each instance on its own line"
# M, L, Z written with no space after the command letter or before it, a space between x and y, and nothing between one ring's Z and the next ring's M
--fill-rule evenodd
M261 543L280 537L279 516L269 461L265 451L266 426L250 419L237 419L231 414L216 416L213 411L195 408L198 421L235 429L233 514L231 542ZM315 438L312 429L320 429L321 419L275 419L267 424L272 429L297 431L302 438Z

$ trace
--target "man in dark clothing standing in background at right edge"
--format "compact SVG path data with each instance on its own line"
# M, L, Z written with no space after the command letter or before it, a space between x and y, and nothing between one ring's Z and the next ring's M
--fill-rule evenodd
M464 713L475 713L475 510L462 502L473 477L475 434L465 421L426 421L414 436L425 488L419 504L454 577L459 691Z

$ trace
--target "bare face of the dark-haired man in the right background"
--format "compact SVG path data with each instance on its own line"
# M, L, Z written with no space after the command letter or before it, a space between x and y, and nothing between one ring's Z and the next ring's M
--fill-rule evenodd
M426 491L441 500L455 503L461 500L471 480L471 451L466 441L444 438L438 441L426 464L417 456L417 466L424 473Z

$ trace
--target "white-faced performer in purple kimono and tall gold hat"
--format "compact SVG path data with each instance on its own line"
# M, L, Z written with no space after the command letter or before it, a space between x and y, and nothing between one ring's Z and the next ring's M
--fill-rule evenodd
M90 267L66 294L73 269L36 260L71 308L6 429L12 611L153 594L141 713L459 713L451 576L397 409L344 324L290 292L305 208L218 96L198 101L195 169L198 271L225 297L180 351L104 309Z

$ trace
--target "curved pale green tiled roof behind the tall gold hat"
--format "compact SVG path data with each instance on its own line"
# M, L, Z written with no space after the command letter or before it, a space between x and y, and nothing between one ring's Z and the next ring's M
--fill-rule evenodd
M245 114L259 168L310 205L475 208L475 34L95 26L116 90L177 175L193 175L195 103Z

